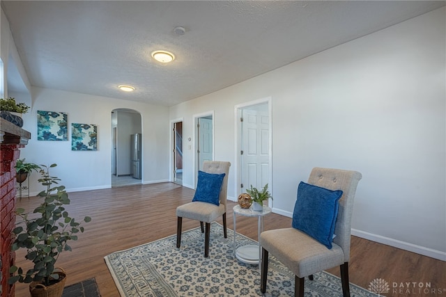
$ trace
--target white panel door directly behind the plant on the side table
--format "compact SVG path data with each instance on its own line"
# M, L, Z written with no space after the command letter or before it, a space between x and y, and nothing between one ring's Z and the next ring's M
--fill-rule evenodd
M268 109L268 105L266 105ZM270 177L269 116L263 109L243 109L241 139L241 192L251 185L262 188Z

